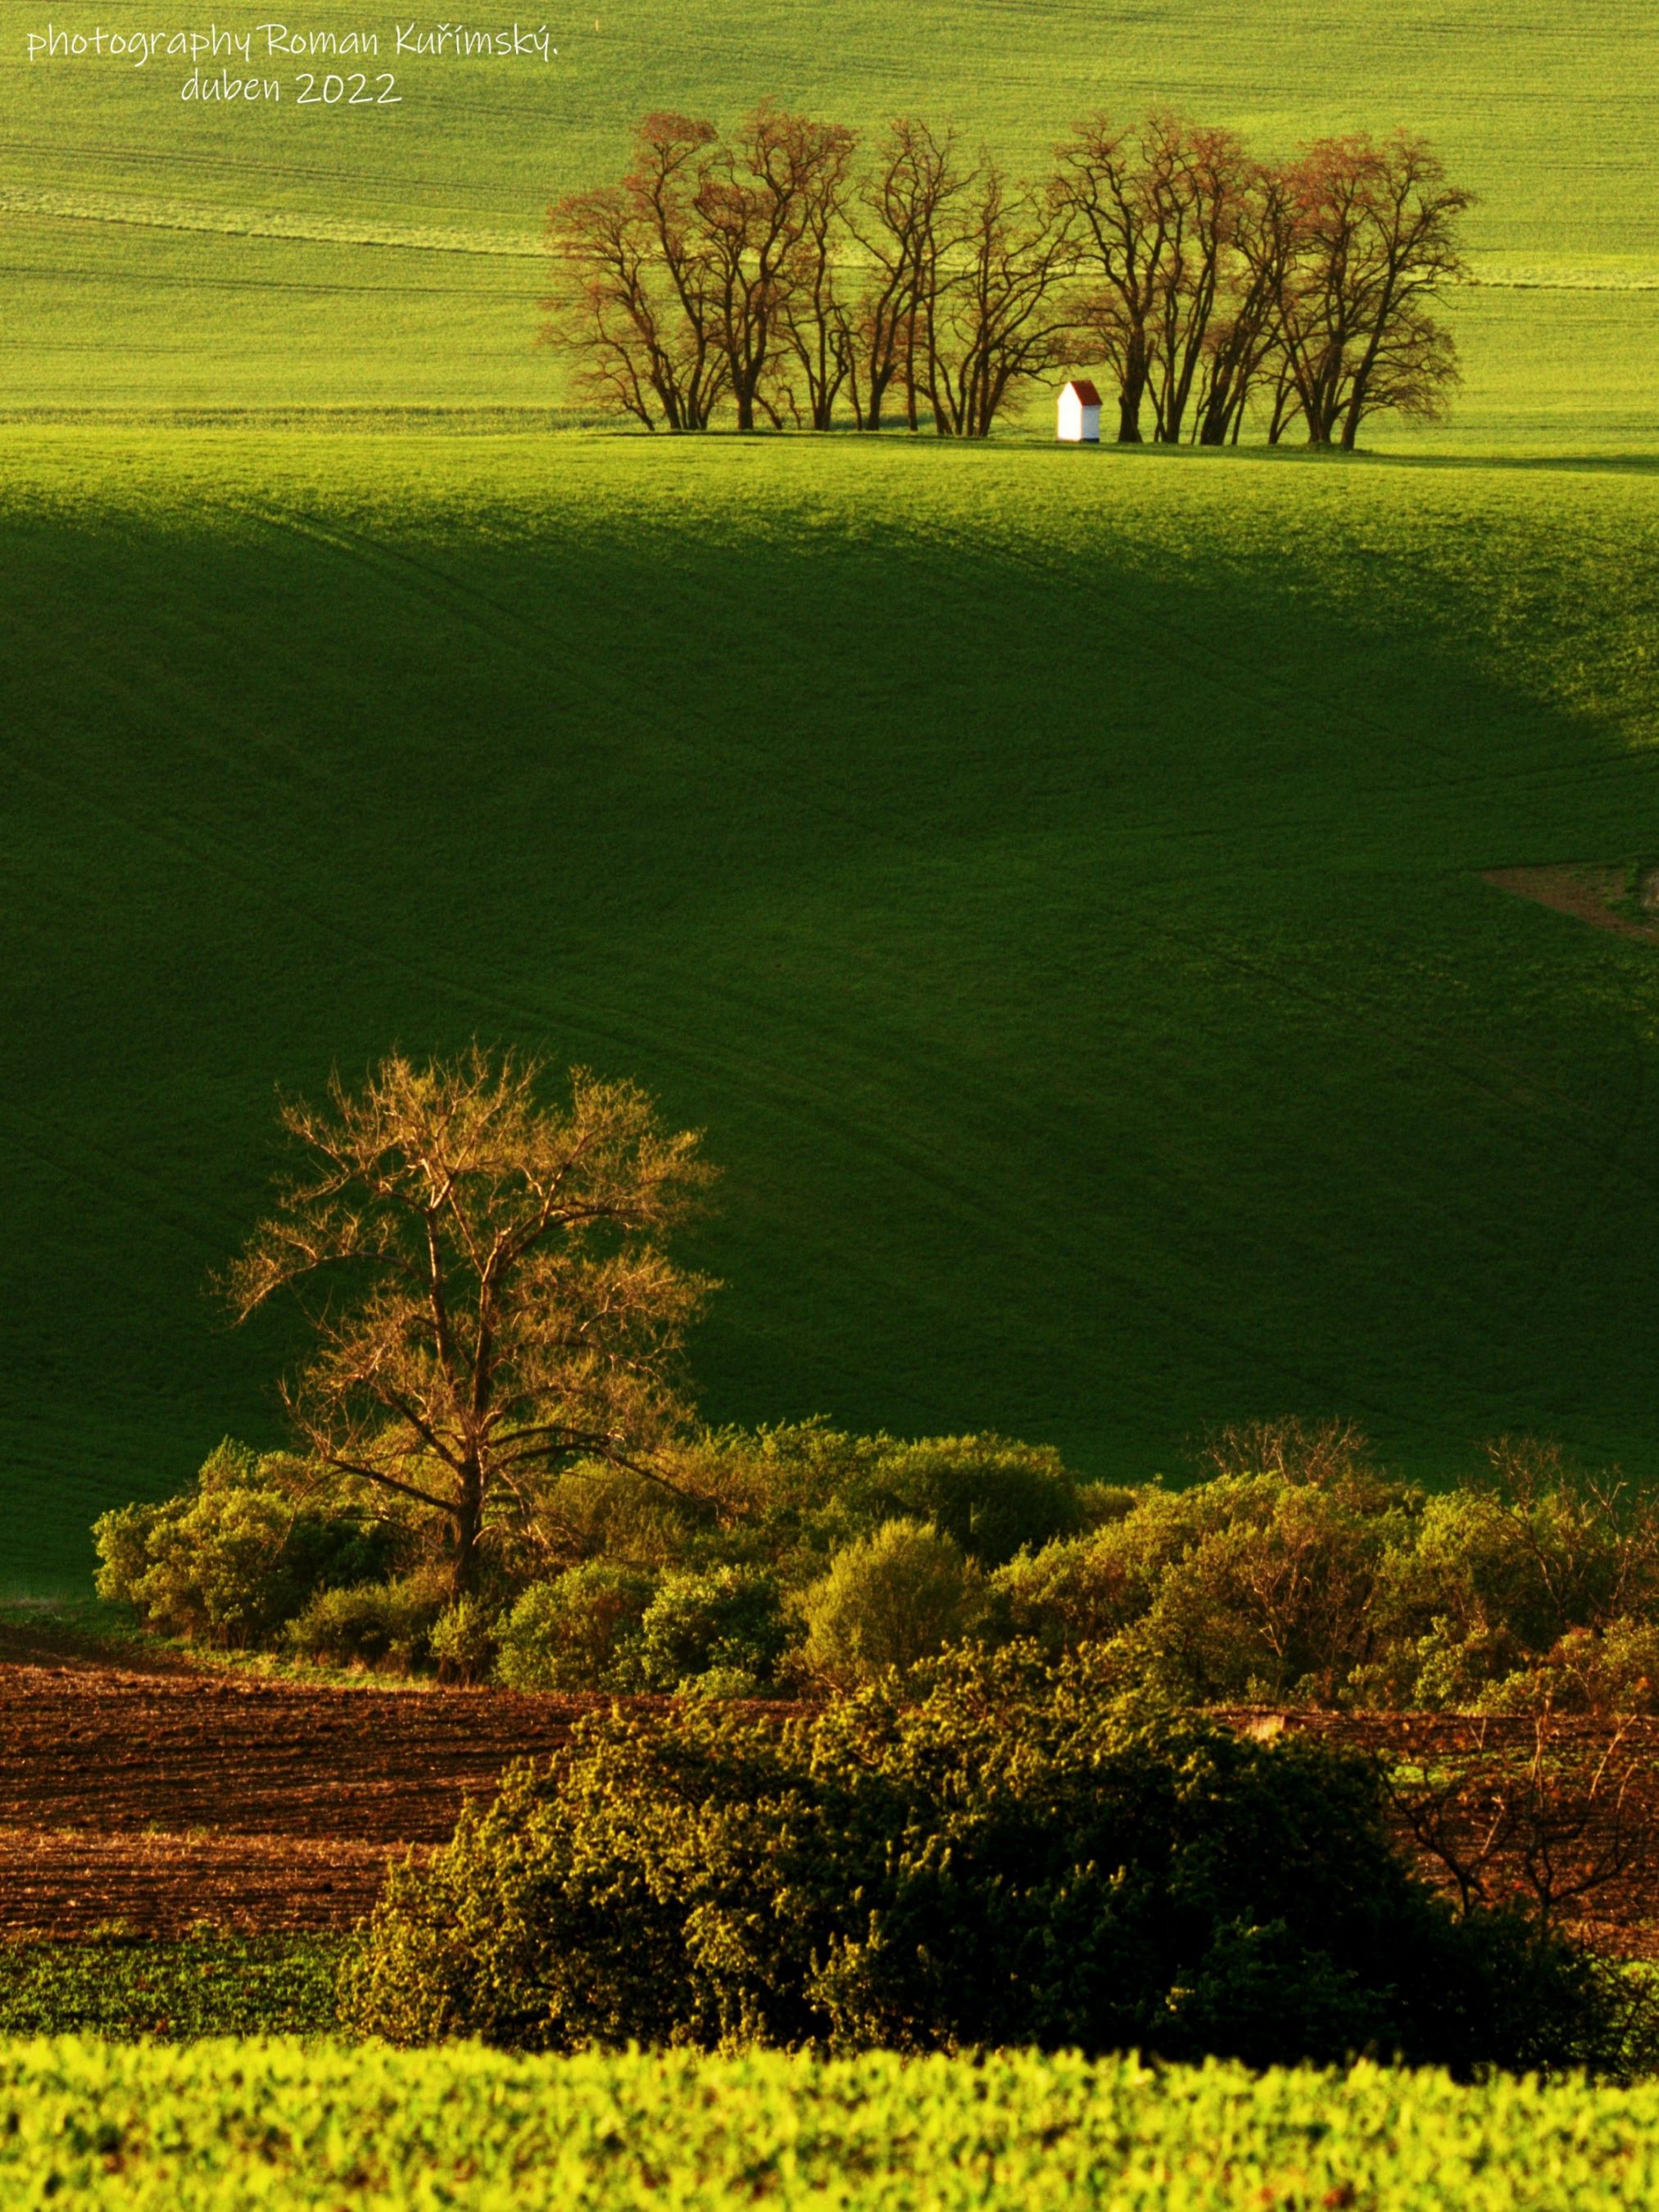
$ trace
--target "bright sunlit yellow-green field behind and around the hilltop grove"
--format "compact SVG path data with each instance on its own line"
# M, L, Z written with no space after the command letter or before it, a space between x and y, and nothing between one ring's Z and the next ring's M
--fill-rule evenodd
M1455 312L1469 392L1440 442L1652 434L1641 0L1593 22L1498 0L1241 0L1225 22L1197 0L847 0L832 31L779 0L710 0L695 22L597 0L551 22L557 62L392 58L405 102L369 111L294 106L292 62L276 108L184 104L166 58L31 66L35 18L0 15L0 411L546 407L542 210L608 175L646 108L730 119L774 95L860 126L911 108L1040 166L1082 108L1168 100L1263 148L1409 124L1475 186L1484 290ZM283 20L345 29L316 0ZM100 22L153 29L153 11L113 0Z

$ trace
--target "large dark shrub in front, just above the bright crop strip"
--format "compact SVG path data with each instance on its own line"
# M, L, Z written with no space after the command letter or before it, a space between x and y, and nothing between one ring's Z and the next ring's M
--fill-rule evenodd
M1378 1794L1305 1741L1135 1719L1093 1661L1029 1648L785 1725L611 1712L394 1869L343 2020L557 2051L1613 2062L1595 1969L1517 1920L1453 1920Z

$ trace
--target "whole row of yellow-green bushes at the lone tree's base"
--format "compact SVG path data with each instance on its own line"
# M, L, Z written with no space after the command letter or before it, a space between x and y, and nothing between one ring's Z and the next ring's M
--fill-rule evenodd
M1177 1705L1659 1710L1659 1511L1535 1449L1429 1491L1340 1433L1254 1431L1170 1489L1002 1438L721 1431L672 1486L573 1469L458 1604L418 1524L307 1495L223 1444L104 1515L100 1590L170 1635L518 1690L796 1694L1031 1639Z

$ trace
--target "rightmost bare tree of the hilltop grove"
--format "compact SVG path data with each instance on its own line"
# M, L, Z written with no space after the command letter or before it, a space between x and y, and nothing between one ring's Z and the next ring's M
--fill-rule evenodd
M1307 442L1352 451L1367 414L1431 416L1458 378L1451 334L1429 303L1464 274L1458 217L1473 195L1402 131L1321 139L1285 184L1298 232L1285 354Z

